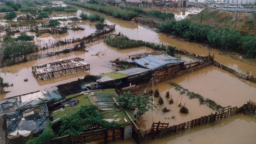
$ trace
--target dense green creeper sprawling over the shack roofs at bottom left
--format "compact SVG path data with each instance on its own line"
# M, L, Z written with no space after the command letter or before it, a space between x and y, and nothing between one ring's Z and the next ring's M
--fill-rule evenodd
M51 123L48 123L46 129L37 138L29 140L27 144L44 144L56 136L74 135L84 132L90 126L97 124L102 128L118 128L122 125L115 122L108 122L98 113L98 107L95 105L82 106L76 113L66 116L57 122L60 123L58 134L52 130Z

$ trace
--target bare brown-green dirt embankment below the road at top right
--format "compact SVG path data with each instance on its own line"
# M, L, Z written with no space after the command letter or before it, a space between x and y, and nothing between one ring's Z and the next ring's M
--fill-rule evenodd
M234 12L236 13L236 12ZM223 10L205 8L203 10L202 22L211 25L215 28L234 28L236 15ZM194 22L201 21L202 12L193 15L190 19ZM256 14L238 12L236 30L241 32L255 33L256 32Z

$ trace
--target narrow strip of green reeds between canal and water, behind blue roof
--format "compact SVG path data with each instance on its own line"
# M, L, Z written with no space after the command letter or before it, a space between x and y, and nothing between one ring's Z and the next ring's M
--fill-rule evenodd
M152 48L154 50L161 50L166 51L165 45L152 43L152 42L145 42L142 40L130 40L127 36L118 36L113 38L107 38L104 40L105 43L112 47L116 47L118 49L127 49L127 48L134 48L140 46L146 46ZM174 56L175 55L175 47L169 46L167 48L167 54Z

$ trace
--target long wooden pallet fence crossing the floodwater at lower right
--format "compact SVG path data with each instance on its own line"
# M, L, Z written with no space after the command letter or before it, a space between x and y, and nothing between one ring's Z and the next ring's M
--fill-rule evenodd
M222 118L228 118L234 116L239 112L245 112L245 114L254 114L256 112L255 102L249 100L247 104L244 104L242 107L231 107L227 106L222 108L222 110L216 111L215 114L211 113L210 115L202 116L197 119L193 119L188 122L184 122L178 125L169 126L169 123L158 123L152 124L151 128L145 131L140 131L136 126L133 127L133 138L137 144L144 142L149 139L159 138L166 135L178 133L182 130L190 130L196 126L214 122Z

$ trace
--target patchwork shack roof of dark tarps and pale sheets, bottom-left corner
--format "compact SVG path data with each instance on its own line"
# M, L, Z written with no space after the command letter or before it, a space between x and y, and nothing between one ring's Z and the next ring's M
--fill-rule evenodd
M7 130L10 143L25 143L44 130L49 117L47 105L61 98L57 87L52 87L1 100L0 114L7 123L3 129Z

